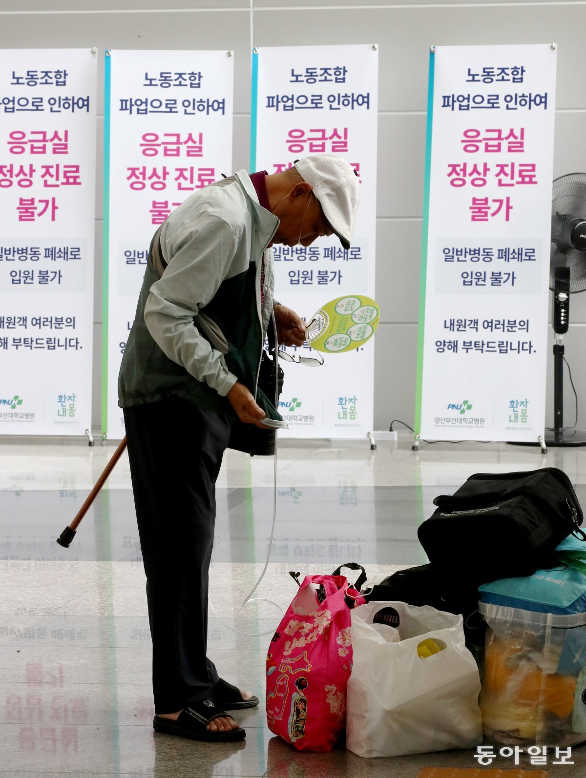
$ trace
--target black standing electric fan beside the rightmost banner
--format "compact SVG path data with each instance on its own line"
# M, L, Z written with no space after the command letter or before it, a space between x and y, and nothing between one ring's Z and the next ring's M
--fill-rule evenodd
M553 428L546 446L586 446L586 430L563 426L563 338L570 323L570 294L586 289L586 173L553 181L549 289L553 292ZM571 380L571 376L570 376Z

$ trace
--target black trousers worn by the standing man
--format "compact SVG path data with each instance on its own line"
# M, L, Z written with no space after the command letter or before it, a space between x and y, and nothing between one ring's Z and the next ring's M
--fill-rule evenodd
M211 699L206 657L216 478L232 420L170 398L124 409L153 638L156 713Z

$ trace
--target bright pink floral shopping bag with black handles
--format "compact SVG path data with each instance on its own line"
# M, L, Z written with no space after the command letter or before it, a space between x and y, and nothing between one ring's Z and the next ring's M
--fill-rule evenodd
M268 728L299 751L329 751L346 727L350 608L363 603L357 588L365 579L363 571L356 588L349 588L341 575L306 576L272 638Z

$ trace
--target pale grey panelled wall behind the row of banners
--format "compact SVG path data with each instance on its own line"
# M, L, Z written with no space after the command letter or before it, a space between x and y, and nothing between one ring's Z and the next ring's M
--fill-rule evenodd
M374 428L412 424L427 67L430 44L558 44L554 175L586 172L583 2L381 2L381 0L0 0L0 46L233 49L233 167L248 167L251 47L377 43L380 47L377 198L377 331ZM98 107L98 143L104 107ZM227 172L227 171L226 171ZM100 425L102 158L98 154L93 424ZM570 301L566 356L586 426L586 294ZM553 421L549 356L546 423ZM574 395L566 381L566 419Z

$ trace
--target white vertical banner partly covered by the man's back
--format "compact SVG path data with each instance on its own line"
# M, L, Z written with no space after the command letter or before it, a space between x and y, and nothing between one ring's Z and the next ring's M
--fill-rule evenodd
M232 170L232 51L107 51L102 430L125 435L118 370L153 234Z

